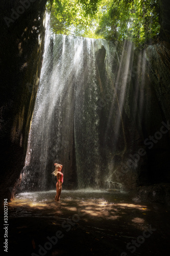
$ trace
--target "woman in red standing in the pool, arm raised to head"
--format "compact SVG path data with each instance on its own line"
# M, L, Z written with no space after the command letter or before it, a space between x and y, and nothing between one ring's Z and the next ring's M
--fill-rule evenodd
M62 184L63 184L63 174L61 173L62 165L55 163L55 170L52 174L57 176L57 183L56 183L56 191L57 194L55 196L55 200L59 201L60 200L60 195L61 195L61 190L62 190Z

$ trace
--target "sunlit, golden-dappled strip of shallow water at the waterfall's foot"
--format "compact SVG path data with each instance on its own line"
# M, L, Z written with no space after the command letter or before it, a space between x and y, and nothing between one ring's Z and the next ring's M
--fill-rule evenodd
M98 217L113 220L122 217L127 210L138 210L141 213L149 211L146 205L132 203L125 193L113 194L106 190L90 189L63 190L59 202L55 202L55 194L55 190L20 193L10 203L10 215L52 217L56 214L75 214L82 210L84 219Z

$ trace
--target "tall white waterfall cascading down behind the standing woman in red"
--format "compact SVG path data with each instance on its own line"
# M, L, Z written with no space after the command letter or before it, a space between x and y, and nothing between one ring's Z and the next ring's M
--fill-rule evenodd
M63 188L110 186L113 157L126 144L117 143L124 129L115 125L114 58L111 42L47 29L21 189L54 188L55 162L63 164Z

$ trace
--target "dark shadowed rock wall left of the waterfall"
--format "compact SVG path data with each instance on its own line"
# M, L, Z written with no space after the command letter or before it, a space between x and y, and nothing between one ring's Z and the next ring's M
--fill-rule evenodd
M46 0L1 1L1 201L25 162L41 70Z

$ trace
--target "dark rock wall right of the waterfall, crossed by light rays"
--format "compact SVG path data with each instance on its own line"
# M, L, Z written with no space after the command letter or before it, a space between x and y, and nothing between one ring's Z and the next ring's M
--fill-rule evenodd
M115 177L129 188L170 181L169 56L167 42L135 50L125 74L129 79L123 103L127 151Z

